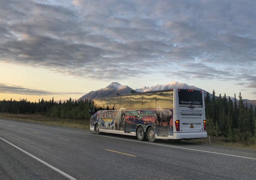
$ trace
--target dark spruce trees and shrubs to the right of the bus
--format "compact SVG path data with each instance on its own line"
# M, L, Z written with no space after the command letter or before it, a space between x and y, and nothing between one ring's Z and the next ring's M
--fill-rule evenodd
M237 103L234 94L234 103L224 96L210 98L207 92L205 98L205 111L207 134L216 142L224 144L239 144L242 146L256 147L256 107L243 104L242 95L239 93Z

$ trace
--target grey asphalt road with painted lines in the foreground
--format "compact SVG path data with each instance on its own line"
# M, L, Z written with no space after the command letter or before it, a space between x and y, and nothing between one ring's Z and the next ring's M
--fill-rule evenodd
M72 178L256 179L256 150L0 119L1 180Z

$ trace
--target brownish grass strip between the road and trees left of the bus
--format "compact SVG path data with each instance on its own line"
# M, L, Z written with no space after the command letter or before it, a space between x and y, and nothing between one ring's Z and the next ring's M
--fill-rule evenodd
M19 120L22 122L33 122L39 124L65 126L69 128L90 129L90 120L85 119L60 119L51 118L41 114L11 114L0 113L0 118Z

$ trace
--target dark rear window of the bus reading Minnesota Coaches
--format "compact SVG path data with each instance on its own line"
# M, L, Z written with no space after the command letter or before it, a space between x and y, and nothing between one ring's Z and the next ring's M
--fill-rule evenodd
M201 91L179 89L178 96L179 96L180 107L190 107L190 106L194 106L195 108L203 107L203 95Z

